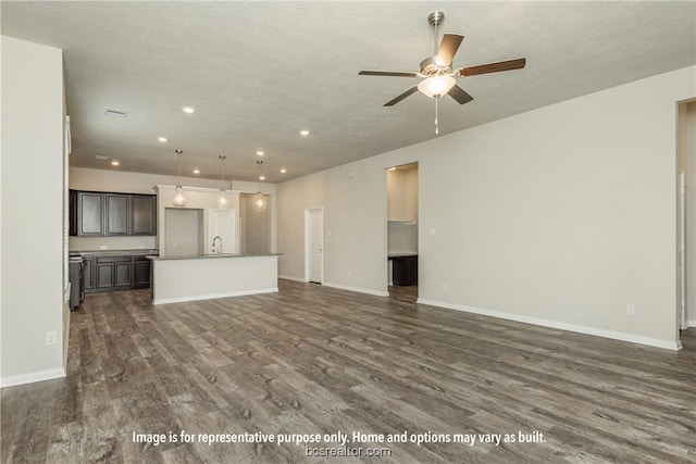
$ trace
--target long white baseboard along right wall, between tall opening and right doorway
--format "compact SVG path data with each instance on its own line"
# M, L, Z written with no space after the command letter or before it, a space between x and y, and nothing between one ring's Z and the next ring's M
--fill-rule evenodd
M481 314L484 316L498 317L501 319L515 321L519 323L533 324L542 327L558 328L561 330L575 331L577 334L594 335L597 337L611 338L614 340L629 341L631 343L647 344L648 347L663 348L676 351L681 349L681 343L676 341L660 340L657 338L642 337L639 335L625 334L622 331L605 330L595 327L580 326L558 321L543 319L539 317L527 317L519 314L502 313L499 311L482 310L480 308L464 306L460 304L447 303L444 301L418 299L419 304L430 304L432 306L445 308L448 310L463 311L465 313Z

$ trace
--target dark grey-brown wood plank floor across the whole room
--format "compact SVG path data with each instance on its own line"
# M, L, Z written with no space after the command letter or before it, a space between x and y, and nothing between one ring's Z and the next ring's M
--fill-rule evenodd
M157 308L149 290L89 294L67 377L2 390L1 461L696 462L696 329L671 352L418 305L413 288L279 288ZM199 437L339 430L425 442L310 446L363 453L330 457Z

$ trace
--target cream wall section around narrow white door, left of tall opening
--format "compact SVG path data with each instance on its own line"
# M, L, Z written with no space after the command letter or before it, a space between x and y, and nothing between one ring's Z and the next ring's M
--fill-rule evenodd
M324 285L386 294L387 191L377 158L277 185L278 274L304 278L304 210L324 206Z

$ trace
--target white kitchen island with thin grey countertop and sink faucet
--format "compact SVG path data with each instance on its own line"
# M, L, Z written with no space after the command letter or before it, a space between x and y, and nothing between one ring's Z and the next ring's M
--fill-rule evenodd
M278 291L278 254L148 256L152 304Z

